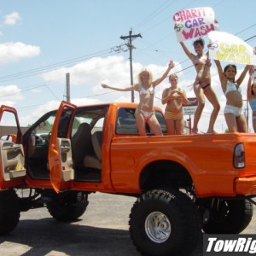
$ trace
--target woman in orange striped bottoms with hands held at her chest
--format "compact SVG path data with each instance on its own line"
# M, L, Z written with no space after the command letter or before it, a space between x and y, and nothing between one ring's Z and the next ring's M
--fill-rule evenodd
M165 121L168 134L183 134L183 103L188 104L186 92L177 87L177 75L169 76L171 87L163 90L162 104L166 104Z

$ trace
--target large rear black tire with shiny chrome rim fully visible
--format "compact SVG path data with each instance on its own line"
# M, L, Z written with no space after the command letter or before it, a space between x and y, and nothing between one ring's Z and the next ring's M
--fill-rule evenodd
M131 209L131 240L143 255L189 255L200 230L199 213L178 190L154 189Z

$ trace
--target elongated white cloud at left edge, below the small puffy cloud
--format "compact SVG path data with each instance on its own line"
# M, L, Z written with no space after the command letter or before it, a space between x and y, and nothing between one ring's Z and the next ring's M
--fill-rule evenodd
M21 42L0 44L0 64L31 58L40 54L40 47Z

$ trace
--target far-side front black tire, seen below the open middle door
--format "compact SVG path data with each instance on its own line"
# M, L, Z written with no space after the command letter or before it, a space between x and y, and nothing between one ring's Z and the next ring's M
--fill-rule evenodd
M49 214L61 221L75 221L81 217L88 205L87 194L71 191L66 195L55 194L47 204Z

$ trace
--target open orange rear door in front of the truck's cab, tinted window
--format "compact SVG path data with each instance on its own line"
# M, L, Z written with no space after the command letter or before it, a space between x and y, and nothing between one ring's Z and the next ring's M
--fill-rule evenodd
M74 179L70 134L75 110L75 105L61 102L49 139L49 177L56 192L71 188Z

